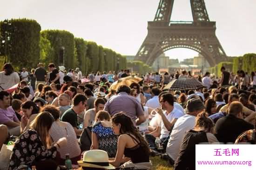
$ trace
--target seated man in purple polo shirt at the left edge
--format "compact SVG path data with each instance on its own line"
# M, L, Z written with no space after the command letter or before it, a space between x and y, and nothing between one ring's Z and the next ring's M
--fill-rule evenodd
M15 111L10 106L11 98L8 92L0 92L0 124L7 125L10 135L20 135L20 121L17 118Z

